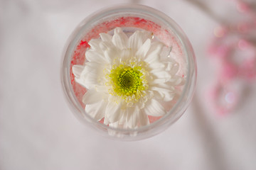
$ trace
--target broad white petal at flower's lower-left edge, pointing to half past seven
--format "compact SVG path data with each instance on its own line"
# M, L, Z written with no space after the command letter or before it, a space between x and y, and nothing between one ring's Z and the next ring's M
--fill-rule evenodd
M105 109L107 103L105 101L98 101L97 103L93 103L85 106L85 112L88 113L92 118L96 120L101 120L105 116Z

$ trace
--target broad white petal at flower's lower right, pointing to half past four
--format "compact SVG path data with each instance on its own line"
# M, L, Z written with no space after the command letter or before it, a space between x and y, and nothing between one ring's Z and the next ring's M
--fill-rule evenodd
M146 105L144 107L144 112L146 113L146 115L152 115L152 116L161 116L166 113L166 111L164 111L164 107L161 106L161 104L158 101L156 101L154 98L146 102Z

